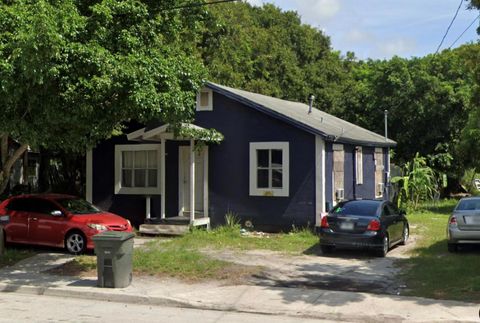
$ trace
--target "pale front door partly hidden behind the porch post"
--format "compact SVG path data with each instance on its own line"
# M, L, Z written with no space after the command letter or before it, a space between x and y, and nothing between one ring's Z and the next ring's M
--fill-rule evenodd
M207 147L195 149L195 214L204 214L206 194ZM189 216L190 207L190 146L179 147L178 159L179 215Z

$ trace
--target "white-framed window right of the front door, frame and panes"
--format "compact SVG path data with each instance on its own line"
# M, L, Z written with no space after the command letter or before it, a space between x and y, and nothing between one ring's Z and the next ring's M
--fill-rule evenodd
M250 195L288 196L288 142L250 143Z

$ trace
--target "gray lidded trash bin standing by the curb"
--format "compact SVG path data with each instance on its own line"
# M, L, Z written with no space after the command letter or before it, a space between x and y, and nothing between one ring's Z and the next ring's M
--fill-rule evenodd
M104 231L92 237L97 255L98 287L130 285L134 236L131 232Z

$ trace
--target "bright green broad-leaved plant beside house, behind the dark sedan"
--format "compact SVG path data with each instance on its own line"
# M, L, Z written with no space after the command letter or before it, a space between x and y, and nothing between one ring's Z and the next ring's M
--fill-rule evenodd
M411 203L416 209L420 202L432 200L438 191L435 172L427 165L427 159L418 153L405 164L404 176L393 177L392 183L399 185L399 207Z

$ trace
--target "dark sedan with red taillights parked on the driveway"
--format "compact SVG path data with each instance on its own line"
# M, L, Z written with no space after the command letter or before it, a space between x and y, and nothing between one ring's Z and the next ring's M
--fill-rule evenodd
M372 249L380 257L396 244L405 244L409 226L405 212L380 200L338 203L317 228L323 253L334 248Z

